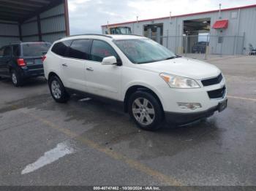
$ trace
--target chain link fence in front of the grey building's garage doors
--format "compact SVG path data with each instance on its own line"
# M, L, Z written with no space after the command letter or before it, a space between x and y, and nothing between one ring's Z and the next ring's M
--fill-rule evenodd
M214 35L187 35L187 36L151 36L177 55L191 55L204 57L213 55L243 55L244 36L214 36Z

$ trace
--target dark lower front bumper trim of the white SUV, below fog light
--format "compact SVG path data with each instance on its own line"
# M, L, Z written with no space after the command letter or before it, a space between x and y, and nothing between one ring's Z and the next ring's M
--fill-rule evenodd
M223 105L225 104L225 105ZM165 112L165 120L168 123L176 125L185 125L190 122L195 122L206 117L211 117L214 112L222 112L227 107L227 98L220 102L217 106L213 106L202 112L189 112L189 113L176 113L176 112Z

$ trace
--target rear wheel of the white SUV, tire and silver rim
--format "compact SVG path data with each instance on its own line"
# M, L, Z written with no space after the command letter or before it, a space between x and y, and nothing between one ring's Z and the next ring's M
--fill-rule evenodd
M66 103L69 101L69 94L65 90L63 83L59 77L53 76L49 79L50 94L58 103Z

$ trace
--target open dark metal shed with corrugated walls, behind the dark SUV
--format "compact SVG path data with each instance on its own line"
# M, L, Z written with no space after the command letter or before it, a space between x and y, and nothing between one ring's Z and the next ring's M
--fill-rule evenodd
M0 45L69 35L67 0L0 0Z

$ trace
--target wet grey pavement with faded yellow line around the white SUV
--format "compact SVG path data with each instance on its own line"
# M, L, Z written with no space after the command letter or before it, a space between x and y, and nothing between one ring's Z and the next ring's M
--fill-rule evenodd
M228 107L156 132L120 108L73 97L44 79L0 80L0 185L256 185L256 58L214 58Z

